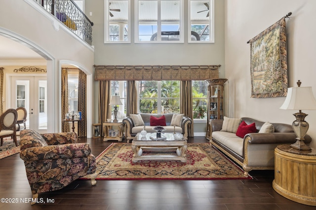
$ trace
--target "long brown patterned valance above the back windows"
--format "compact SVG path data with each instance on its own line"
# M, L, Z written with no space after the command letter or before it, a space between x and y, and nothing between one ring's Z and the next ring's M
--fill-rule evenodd
M106 80L207 80L218 78L221 65L187 65L187 66L114 66L94 65L94 76L97 81Z

